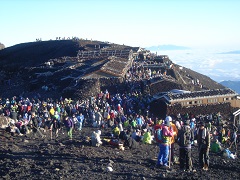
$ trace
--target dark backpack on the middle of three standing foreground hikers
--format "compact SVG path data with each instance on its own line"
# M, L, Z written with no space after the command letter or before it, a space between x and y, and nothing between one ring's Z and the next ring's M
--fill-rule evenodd
M189 126L183 126L178 139L179 146L188 146L191 144L192 133Z

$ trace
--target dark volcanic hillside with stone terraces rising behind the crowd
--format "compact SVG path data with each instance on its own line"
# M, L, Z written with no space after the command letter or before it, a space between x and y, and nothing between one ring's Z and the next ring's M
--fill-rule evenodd
M132 64L135 68L139 66L138 73L148 69L160 74L166 72L160 79L151 79L152 93L173 88L190 91L224 88L205 75L174 64L169 58L158 58L149 51L139 51L138 47L83 39L18 44L0 51L0 93L3 97L41 94L57 98L88 97L104 89L125 92L129 84L124 78ZM138 77L137 82L139 90L146 92L146 78Z

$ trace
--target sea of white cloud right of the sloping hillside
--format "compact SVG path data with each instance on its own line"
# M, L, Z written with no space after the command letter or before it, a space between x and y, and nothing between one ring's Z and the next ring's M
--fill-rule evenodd
M238 68L240 55L218 54L219 52L224 52L224 50L192 49L168 51L164 52L164 54L167 54L173 63L207 75L215 81L240 80L240 71Z

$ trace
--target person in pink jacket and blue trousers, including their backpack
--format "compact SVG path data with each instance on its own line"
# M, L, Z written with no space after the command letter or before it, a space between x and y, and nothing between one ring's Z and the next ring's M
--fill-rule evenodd
M162 126L156 125L159 128L155 127L155 139L159 144L159 154L157 166L163 166L164 168L168 168L168 156L169 156L169 146L170 146L170 138L173 136L173 130L170 126L169 119L164 121Z

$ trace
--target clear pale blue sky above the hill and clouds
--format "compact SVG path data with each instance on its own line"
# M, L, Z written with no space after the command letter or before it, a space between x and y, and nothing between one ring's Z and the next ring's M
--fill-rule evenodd
M56 37L240 49L239 0L1 0L6 47Z

